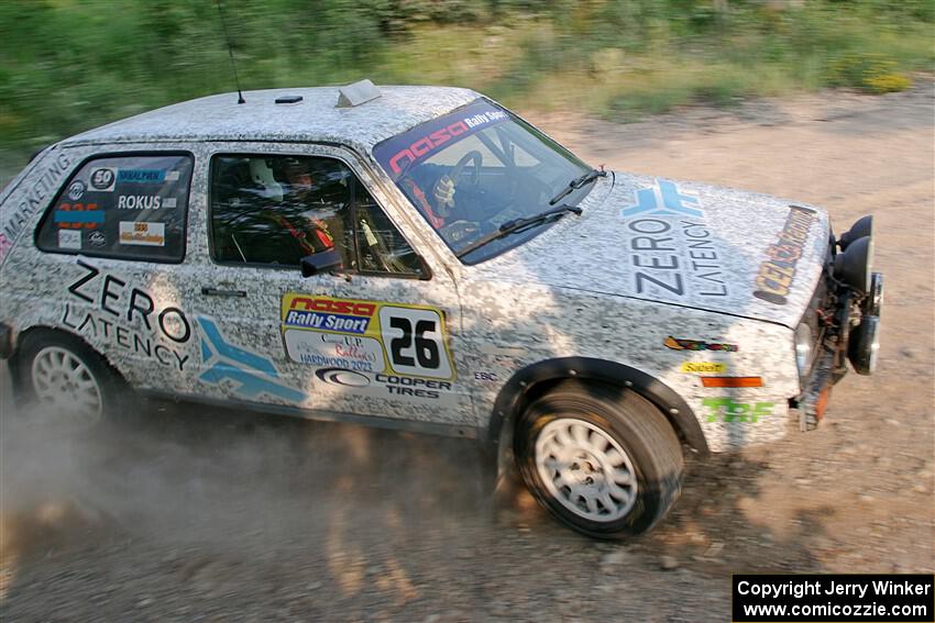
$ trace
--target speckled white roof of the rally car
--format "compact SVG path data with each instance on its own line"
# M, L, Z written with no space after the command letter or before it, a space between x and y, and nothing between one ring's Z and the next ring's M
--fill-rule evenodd
M101 143L178 141L328 142L363 153L414 125L471 102L480 94L453 87L380 87L365 103L338 108L340 87L268 89L208 96L102 125L62 142L64 146ZM297 103L276 103L301 96Z

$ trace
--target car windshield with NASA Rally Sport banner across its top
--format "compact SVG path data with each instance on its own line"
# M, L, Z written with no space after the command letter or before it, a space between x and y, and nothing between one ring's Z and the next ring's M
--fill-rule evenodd
M590 167L509 111L477 99L373 149L396 186L455 255L516 219L535 216ZM573 205L593 185L563 198ZM549 227L547 220L461 256L476 264Z

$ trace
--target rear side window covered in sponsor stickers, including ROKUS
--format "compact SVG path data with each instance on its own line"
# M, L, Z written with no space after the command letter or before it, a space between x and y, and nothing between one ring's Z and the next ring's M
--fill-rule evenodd
M182 262L190 183L190 155L90 159L59 191L36 246L53 253Z

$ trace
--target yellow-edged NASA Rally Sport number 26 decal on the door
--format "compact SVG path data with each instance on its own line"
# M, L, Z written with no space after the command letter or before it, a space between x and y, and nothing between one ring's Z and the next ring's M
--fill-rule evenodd
M289 293L282 322L286 353L299 364L455 378L444 313L437 308Z

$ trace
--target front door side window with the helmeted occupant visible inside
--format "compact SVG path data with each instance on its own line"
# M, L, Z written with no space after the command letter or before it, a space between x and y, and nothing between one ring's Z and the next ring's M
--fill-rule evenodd
M343 272L424 276L411 246L334 158L216 156L210 208L211 257L221 264L298 268L337 251Z

